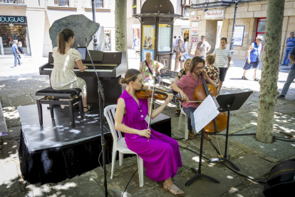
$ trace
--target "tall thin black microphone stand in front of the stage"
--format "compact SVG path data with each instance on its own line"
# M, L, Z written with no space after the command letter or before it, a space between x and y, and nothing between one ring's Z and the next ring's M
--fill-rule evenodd
M105 94L103 93L103 85L101 84L99 80L98 72L95 69L92 58L87 48L87 39L85 39L85 41L86 41L86 50L87 50L88 56L90 58L91 64L93 66L96 77L98 79L98 108L99 108L99 118L100 118L101 151L103 152L103 178L104 178L103 184L105 186L105 196L108 196L108 183L106 179L106 169L105 169L105 136L103 133L103 109L102 109L103 105L101 103L101 99L103 99L103 103L105 103ZM98 157L98 160L99 160L99 157Z

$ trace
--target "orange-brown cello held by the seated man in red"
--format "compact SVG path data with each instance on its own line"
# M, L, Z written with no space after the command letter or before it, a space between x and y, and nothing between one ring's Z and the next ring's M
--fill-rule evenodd
M207 98L207 95L211 96L217 96L217 89L212 84L206 84L206 81L204 79L204 76L201 75L201 79L203 84L200 84L197 86L194 92L194 99L204 101L205 98ZM211 122L209 122L205 128L204 131L207 134L210 133L219 133L223 131L225 128L227 128L227 114L224 112L220 112L216 118L214 118Z

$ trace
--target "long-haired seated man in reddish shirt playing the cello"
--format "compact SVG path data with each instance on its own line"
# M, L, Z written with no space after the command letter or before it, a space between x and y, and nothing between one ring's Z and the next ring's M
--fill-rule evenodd
M174 91L180 93L180 96L184 101L193 101L195 100L195 89L197 88L197 86L202 84L202 79L200 75L201 73L203 74L207 84L212 84L214 87L217 86L215 82L212 79L209 79L209 76L206 74L205 60L199 56L195 56L190 62L190 71L187 73L187 75L182 76L180 80L172 84L171 88ZM190 112L194 112L199 105L200 103L182 103L183 111L185 111L185 113L187 114L187 129L189 131L189 138L191 139L195 138L195 134L192 131ZM204 137L206 139L210 138L210 136L206 133L204 133Z

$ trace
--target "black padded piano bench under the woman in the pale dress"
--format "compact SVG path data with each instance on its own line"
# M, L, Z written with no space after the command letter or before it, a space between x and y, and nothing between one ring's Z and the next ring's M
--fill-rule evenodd
M51 87L42 89L36 92L36 96L44 96L37 99L39 123L43 125L42 104L49 104L51 118L54 118L53 106L54 105L68 105L71 116L72 127L75 127L75 119L73 114L73 104L78 102L81 118L83 119L83 104L82 96L80 95L81 89L68 89L68 90L54 90ZM59 99L70 99L68 101L60 101Z

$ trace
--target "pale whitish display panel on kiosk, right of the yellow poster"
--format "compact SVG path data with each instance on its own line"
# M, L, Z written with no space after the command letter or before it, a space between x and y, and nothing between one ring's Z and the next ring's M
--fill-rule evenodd
M171 51L171 25L159 24L158 51Z

